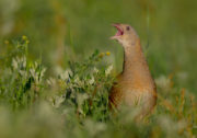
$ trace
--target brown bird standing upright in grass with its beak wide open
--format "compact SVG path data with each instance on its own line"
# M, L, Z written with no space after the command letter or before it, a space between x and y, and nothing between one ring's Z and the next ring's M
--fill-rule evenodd
M140 38L129 24L113 24L117 33L111 37L124 49L123 71L109 92L111 108L140 106L139 116L151 113L157 104L157 85L142 51Z

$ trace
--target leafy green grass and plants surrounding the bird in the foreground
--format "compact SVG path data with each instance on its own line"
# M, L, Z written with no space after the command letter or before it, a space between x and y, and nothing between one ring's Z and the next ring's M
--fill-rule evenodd
M108 91L115 80L109 53L69 62L57 77L46 76L42 59L28 60L28 38L7 42L1 60L0 137L140 137L195 138L197 103L193 93L158 78L158 104L142 122L135 108L112 113ZM11 49L11 50L10 50Z

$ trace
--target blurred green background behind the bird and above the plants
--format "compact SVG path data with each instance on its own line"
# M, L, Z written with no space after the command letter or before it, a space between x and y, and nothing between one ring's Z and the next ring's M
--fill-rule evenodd
M4 42L26 35L30 59L42 57L47 74L95 49L111 51L106 62L121 71L123 49L109 41L112 23L138 32L154 78L167 76L196 93L196 0L0 0L0 54Z

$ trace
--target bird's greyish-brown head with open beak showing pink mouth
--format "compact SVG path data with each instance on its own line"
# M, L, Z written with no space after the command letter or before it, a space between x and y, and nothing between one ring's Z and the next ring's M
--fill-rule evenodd
M117 28L117 33L111 37L111 39L118 41L124 47L128 47L136 44L138 35L136 31L128 24L113 24Z

